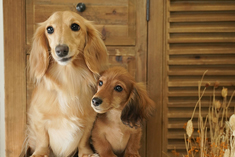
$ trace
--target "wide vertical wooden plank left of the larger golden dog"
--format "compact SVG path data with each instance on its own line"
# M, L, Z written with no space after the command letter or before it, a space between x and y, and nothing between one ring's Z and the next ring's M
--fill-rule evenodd
M20 155L26 126L25 0L3 0L6 156Z

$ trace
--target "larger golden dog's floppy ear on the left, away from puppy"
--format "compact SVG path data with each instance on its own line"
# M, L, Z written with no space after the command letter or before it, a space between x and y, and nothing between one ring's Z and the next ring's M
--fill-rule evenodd
M31 78L40 80L49 65L48 41L45 35L45 26L40 24L37 28L29 57L29 72Z

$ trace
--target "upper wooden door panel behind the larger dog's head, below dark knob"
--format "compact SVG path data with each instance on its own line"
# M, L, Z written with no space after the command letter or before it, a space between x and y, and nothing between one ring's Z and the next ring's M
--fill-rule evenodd
M31 42L37 23L45 21L55 11L71 10L98 25L106 45L135 45L135 0L126 0L123 3L113 1L112 5L95 1L83 2L86 4L86 10L80 13L76 10L76 3L26 0L27 42Z

